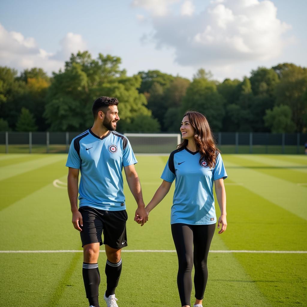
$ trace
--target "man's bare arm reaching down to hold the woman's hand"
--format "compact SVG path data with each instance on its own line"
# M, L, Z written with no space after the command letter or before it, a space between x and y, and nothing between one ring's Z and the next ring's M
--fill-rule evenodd
M138 209L135 211L134 220L136 220L138 216L138 218L140 219L138 223L143 226L144 223L147 222L148 216L145 210L145 204L142 196L141 184L138 179L138 173L134 168L134 164L124 166L124 170L130 191L138 204Z

